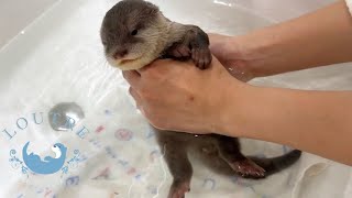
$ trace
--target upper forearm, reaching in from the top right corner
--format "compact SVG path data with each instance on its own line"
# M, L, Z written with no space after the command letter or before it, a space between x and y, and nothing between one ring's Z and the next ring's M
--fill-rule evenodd
M256 77L352 61L352 18L343 1L233 38Z

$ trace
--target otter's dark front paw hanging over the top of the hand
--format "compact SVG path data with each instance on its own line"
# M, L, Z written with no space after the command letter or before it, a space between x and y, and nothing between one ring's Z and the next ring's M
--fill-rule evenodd
M212 56L208 47L191 50L191 59L199 69L208 68L211 63L211 58Z

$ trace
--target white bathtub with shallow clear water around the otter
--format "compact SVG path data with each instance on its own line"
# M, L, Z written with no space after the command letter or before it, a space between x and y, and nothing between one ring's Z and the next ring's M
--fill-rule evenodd
M108 66L102 55L100 22L117 1L35 0L22 10L15 9L20 2L9 2L0 1L0 18L19 19L0 20L0 197L164 198L170 176L153 133L135 111L121 74ZM172 20L235 35L331 1L153 2ZM351 89L351 79L352 68L344 64L253 84L338 90ZM50 109L59 102L76 102L85 112L85 119L66 132L54 131L47 120ZM42 122L37 119L41 113ZM64 143L67 162L74 162L74 166L65 164L67 173L61 169L51 175L22 173L21 168L26 168L21 164L22 147L29 141L30 150L41 156L51 154L48 148L54 143ZM244 143L248 153L283 153L280 145L250 140ZM196 162L191 191L186 197L350 197L350 172L344 165L305 153L292 168L252 182L218 176Z

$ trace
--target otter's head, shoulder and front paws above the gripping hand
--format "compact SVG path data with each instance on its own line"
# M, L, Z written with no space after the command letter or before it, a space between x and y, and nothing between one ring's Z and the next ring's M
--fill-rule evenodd
M211 62L202 30L169 21L146 1L117 3L106 14L100 35L108 62L122 70L139 69L161 56L191 56L201 69Z

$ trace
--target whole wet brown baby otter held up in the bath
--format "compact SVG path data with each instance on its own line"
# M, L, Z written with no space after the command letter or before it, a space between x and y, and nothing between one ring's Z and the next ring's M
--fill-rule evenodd
M211 63L209 38L201 29L173 22L155 4L144 0L118 2L106 13L100 35L108 62L122 70L139 69L163 57L191 58L200 69ZM235 138L195 136L153 129L174 177L169 198L182 198L189 191L193 167L188 152L217 173L245 178L264 178L277 173L298 161L301 154L294 150L274 158L246 157Z

